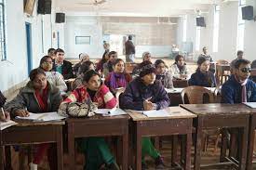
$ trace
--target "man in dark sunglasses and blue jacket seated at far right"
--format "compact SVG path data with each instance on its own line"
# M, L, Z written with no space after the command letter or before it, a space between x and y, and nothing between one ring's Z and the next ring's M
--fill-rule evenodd
M256 84L249 80L249 74L249 60L236 60L235 74L222 85L222 103L256 102Z

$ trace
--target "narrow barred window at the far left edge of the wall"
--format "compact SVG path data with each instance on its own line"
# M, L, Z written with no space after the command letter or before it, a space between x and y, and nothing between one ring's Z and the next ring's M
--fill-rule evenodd
M7 59L5 0L0 0L0 56Z

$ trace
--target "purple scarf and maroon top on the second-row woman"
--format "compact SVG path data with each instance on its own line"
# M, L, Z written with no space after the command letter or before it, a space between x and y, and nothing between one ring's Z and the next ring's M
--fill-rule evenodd
M127 80L125 73L116 73L110 72L110 87L111 88L118 88L118 87L126 87Z

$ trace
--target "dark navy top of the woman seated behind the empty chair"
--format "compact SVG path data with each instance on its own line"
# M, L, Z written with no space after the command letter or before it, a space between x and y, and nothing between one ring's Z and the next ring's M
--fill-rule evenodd
M196 70L196 72L191 75L188 85L215 87L217 84L216 78L212 72L203 73Z

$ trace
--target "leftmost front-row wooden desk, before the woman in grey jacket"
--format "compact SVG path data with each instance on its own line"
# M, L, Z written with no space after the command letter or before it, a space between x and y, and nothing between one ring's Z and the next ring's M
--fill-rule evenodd
M18 121L16 121L18 122ZM58 170L63 169L62 125L64 122L20 122L0 131L0 170L4 170L4 146L52 143L57 144ZM10 165L11 158L7 158ZM6 169L11 169L7 167Z

